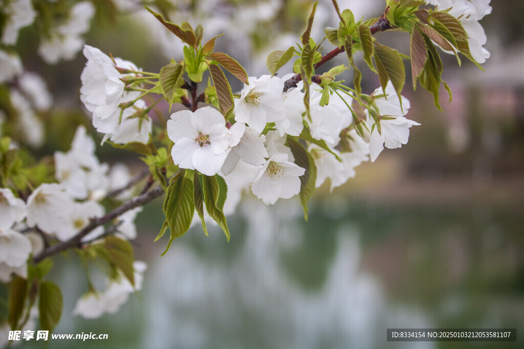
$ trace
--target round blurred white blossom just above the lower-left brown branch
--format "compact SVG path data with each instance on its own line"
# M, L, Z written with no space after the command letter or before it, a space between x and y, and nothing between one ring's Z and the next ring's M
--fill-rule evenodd
M62 229L72 213L73 199L62 185L41 184L27 198L27 226L52 234Z

